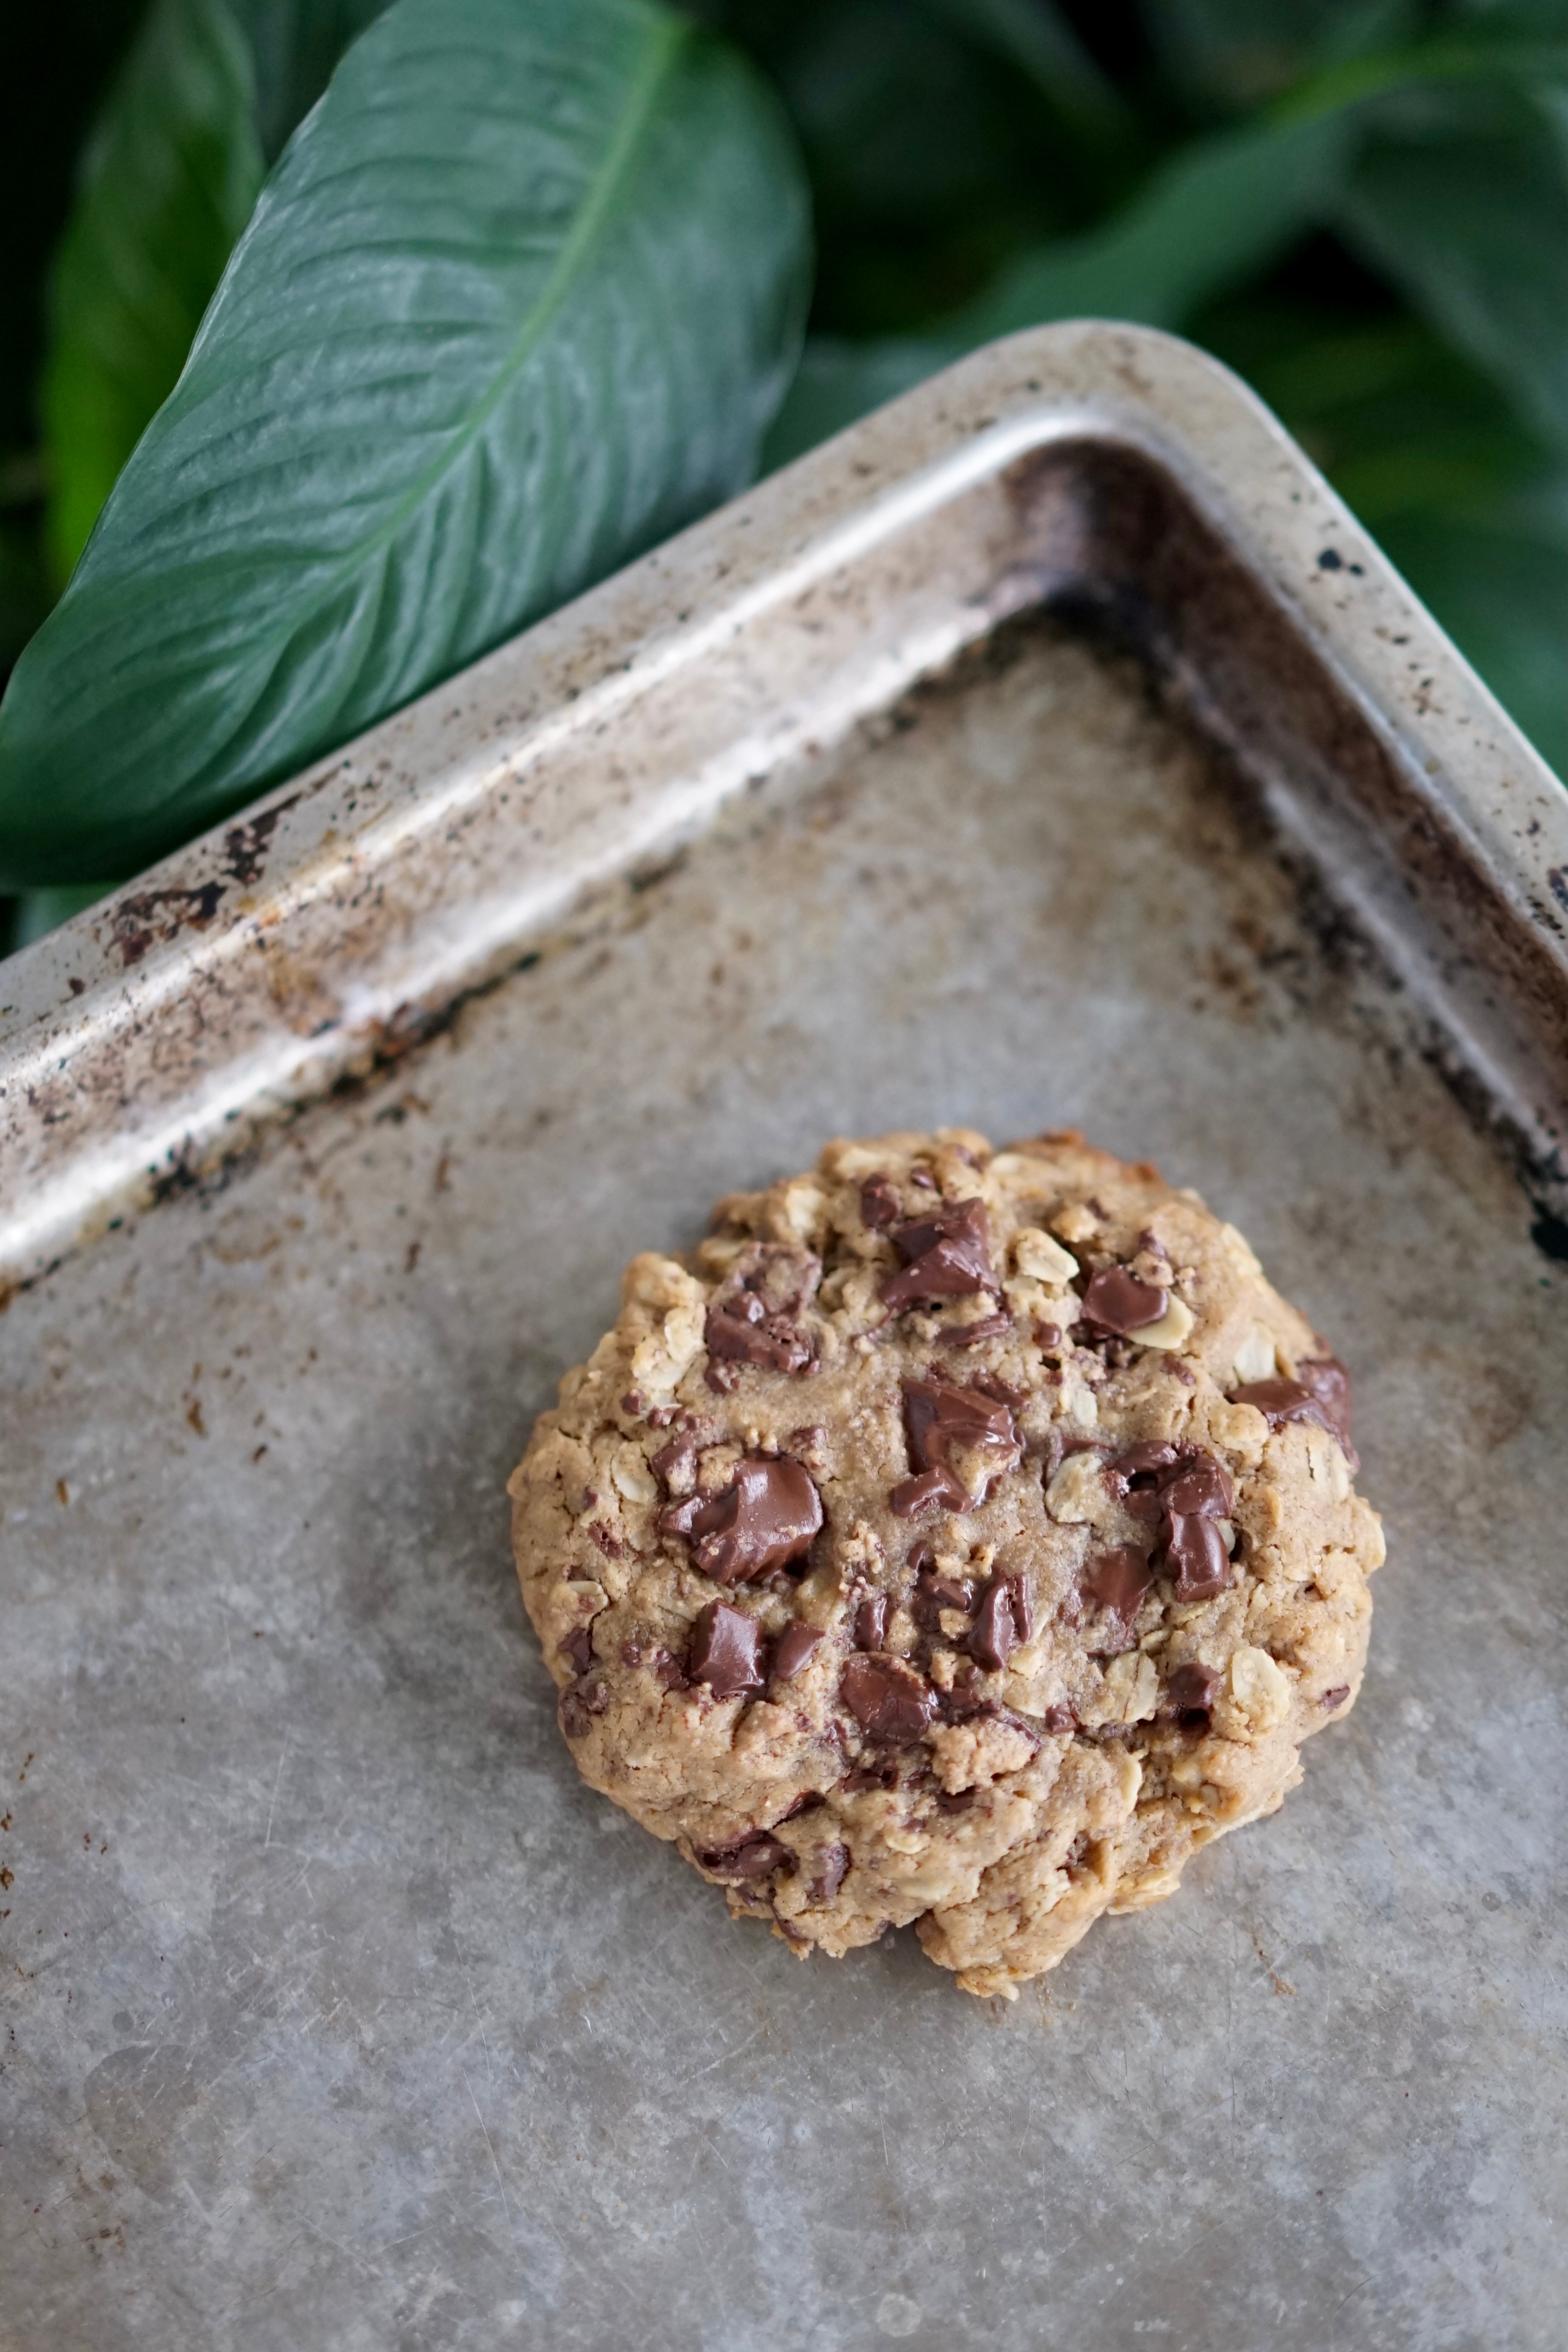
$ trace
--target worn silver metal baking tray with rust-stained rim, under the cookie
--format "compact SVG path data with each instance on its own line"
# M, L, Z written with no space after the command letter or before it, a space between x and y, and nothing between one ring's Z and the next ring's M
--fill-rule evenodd
M1258 402L1072 325L0 967L7 2352L1556 2343L1566 873ZM1234 1218L1389 1536L1284 1813L1011 2006L581 1788L505 1536L632 1249L936 1122Z

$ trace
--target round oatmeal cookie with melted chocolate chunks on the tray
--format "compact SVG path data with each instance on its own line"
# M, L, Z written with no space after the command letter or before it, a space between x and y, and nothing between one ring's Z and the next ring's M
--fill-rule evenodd
M830 1143L639 1256L510 1479L583 1778L797 1952L976 1994L1173 1893L1354 1703L1349 1383L1077 1134Z

